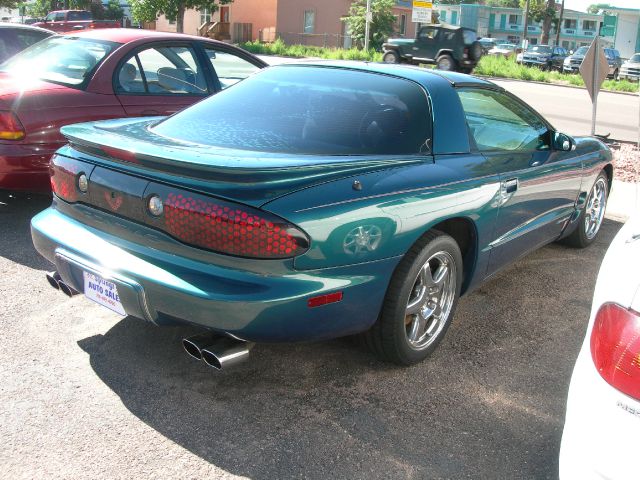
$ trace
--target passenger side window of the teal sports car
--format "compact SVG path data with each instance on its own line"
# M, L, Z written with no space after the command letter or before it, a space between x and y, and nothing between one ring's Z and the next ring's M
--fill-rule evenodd
M550 135L532 110L502 92L458 90L469 132L481 152L548 150Z

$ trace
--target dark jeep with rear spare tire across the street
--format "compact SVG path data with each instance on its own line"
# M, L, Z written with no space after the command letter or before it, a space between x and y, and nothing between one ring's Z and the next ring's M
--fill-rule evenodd
M382 48L386 63L435 63L440 70L464 73L482 56L475 30L445 24L421 27L415 39L390 38Z

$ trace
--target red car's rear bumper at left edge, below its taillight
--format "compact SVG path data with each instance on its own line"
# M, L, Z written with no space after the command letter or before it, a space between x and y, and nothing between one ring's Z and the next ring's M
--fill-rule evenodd
M49 160L59 147L0 144L0 189L50 192Z

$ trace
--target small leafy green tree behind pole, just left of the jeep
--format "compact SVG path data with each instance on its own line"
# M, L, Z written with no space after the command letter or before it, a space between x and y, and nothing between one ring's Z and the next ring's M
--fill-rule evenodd
M369 24L369 45L376 50L393 34L396 17L393 14L395 0L371 0L373 19ZM365 16L367 0L356 0L349 7L349 15L342 17L351 32L351 38L360 46L364 45Z

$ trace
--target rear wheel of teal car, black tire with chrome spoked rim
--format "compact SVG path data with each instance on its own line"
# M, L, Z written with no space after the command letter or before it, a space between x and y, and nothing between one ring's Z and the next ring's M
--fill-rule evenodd
M431 282L423 282L423 275L430 275L426 278ZM362 334L364 342L384 361L399 365L422 361L438 346L449 328L461 285L462 256L456 241L439 231L426 233L409 249L393 273L378 320ZM438 288L441 291L434 293ZM422 292L421 295L418 292ZM434 301L436 297L439 299ZM412 298L413 308L419 312L413 315L408 313ZM422 301L424 303L420 303ZM436 314L438 311L440 315ZM414 331L419 332L418 328L414 329L414 324L421 324L418 317L423 322L424 336L412 337ZM412 342L410 337L416 341Z

